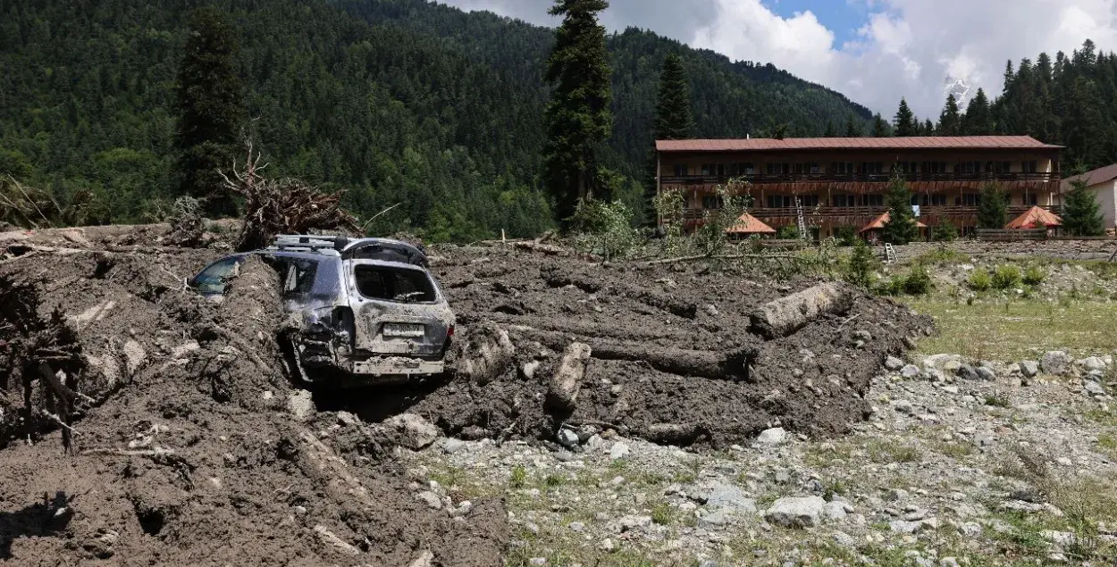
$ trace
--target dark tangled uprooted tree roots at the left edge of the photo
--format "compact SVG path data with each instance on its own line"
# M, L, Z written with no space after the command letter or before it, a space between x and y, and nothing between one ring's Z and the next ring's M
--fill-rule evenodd
M89 401L77 392L82 347L59 310L39 316L38 299L35 287L0 277L0 367L9 369L0 376L0 444L57 425L71 452L70 420Z

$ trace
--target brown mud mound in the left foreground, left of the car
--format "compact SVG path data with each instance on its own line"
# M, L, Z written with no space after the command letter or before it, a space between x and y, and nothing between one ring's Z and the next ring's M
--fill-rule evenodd
M27 376L0 355L0 558L500 563L500 501L433 509L411 496L365 425L299 406L308 396L285 374L270 268L246 263L228 299L213 305L184 291L181 279L210 251L32 252L0 265L7 287L34 294L19 304L23 311L4 315L0 342L26 343L15 317L71 334L80 368L59 368L83 400L68 415L76 454L67 455L63 425L21 417ZM30 404L40 407L34 396Z

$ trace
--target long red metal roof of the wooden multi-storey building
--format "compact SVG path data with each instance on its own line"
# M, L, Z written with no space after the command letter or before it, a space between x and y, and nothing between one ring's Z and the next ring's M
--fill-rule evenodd
M765 152L780 150L1058 150L1031 136L791 137L784 140L658 140L659 152Z

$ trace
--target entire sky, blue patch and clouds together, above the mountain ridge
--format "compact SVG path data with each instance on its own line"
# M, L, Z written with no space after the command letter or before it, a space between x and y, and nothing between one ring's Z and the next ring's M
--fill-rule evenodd
M542 26L554 0L441 0ZM771 63L886 117L937 118L956 81L1002 89L1006 59L1117 49L1117 0L609 0L601 21Z

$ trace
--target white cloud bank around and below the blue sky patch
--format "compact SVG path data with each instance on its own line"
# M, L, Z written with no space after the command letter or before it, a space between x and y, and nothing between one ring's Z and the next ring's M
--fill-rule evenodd
M887 117L904 96L937 118L955 79L1000 93L1004 63L1070 52L1087 38L1117 49L1117 0L850 0L869 10L857 38L836 45L811 12L782 18L761 0L716 0L695 47L771 61ZM859 3L860 2L860 3Z

